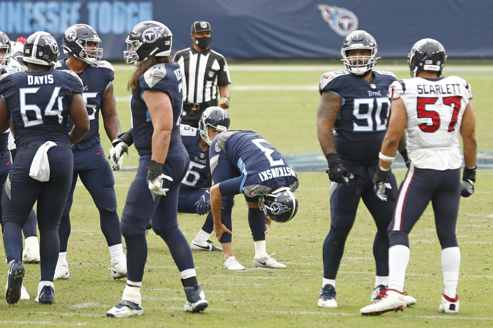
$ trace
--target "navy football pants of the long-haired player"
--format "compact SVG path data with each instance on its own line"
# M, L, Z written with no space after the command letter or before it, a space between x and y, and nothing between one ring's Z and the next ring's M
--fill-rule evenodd
M147 259L145 228L152 219L153 229L167 244L178 270L195 268L192 250L178 228L178 192L180 183L188 169L188 154L185 147L168 152L163 173L173 178L166 196L157 196L153 201L146 182L147 162L150 155L139 159L137 175L128 190L123 208L121 230L127 246L127 278L140 282L144 275Z

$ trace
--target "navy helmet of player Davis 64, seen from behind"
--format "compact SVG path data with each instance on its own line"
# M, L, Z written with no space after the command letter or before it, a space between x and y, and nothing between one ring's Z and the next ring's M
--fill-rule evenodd
M49 66L53 69L60 51L55 38L48 32L38 31L28 36L24 44L25 63Z

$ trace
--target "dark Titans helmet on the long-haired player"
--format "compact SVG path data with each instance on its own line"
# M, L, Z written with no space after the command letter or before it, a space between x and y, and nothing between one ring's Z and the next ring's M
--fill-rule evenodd
M169 56L173 33L162 23L145 21L132 28L125 42L127 43L127 50L123 51L125 63L139 65L149 56Z

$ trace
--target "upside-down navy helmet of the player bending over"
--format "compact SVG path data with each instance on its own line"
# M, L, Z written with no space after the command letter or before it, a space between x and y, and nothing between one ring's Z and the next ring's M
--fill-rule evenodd
M258 206L264 213L276 222L291 220L298 211L298 200L288 187L282 187L267 196L258 198Z

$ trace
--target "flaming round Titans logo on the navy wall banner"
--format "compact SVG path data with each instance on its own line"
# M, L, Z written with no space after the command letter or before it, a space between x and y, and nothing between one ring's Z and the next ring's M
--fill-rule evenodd
M317 8L321 11L324 21L341 36L346 36L358 28L358 17L346 8L327 5L318 5Z

